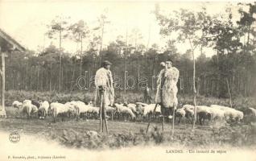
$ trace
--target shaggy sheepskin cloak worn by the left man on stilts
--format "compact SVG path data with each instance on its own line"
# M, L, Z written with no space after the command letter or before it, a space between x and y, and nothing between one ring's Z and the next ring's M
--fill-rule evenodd
M101 96L99 93L99 86L105 86L104 92L104 105L113 105L114 104L114 86L113 86L113 78L110 70L106 68L99 68L95 75L95 86L96 86L96 97L95 103L96 105L101 104Z

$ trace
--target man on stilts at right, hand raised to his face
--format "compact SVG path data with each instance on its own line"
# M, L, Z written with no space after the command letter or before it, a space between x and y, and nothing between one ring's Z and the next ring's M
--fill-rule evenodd
M172 60L167 60L165 62L165 68L160 71L157 80L155 103L161 105L162 129L164 126L164 118L172 118L171 136L174 134L175 109L178 105L178 80L179 70L172 67Z

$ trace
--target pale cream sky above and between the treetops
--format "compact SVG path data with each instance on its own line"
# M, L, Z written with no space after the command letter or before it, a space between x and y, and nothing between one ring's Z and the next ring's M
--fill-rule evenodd
M180 8L188 10L200 10L205 6L209 14L221 14L225 12L225 6L231 6L228 2L158 2L164 13L171 13ZM236 3L233 3L233 6ZM24 47L30 50L42 50L53 43L58 47L58 41L48 39L47 24L57 15L68 17L68 23L75 23L83 19L90 28L97 27L97 17L105 13L110 21L105 26L103 47L114 41L118 35L126 36L133 28L138 28L142 33L142 39L138 43L147 44L150 36L149 47L157 43L164 47L166 39L159 35L159 25L155 15L151 13L155 9L153 1L31 1L31 0L0 0L0 28L6 31ZM233 10L237 10L234 6ZM233 13L234 19L239 14ZM150 34L149 34L150 33ZM175 39L175 37L171 38ZM84 48L89 39L85 39ZM76 52L80 47L70 39L64 40L63 47L68 52ZM189 49L188 43L177 43L176 47L181 53ZM215 52L211 48L205 49L206 56L213 56ZM199 52L196 52L199 55Z

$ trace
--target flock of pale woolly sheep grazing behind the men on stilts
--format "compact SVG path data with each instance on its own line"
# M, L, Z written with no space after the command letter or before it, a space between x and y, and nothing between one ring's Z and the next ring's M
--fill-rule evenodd
M34 115L36 118L44 119L46 117L52 117L53 121L56 122L57 117L61 117L62 121L66 118L73 119L76 118L94 118L97 119L99 116L99 107L93 106L93 103L85 103L83 101L68 101L66 103L52 102L49 104L48 101L31 101L25 100L23 102L14 101L14 108L19 111L19 114L23 114L23 118L27 115L27 118L31 118ZM105 111L107 118L113 119L130 119L136 120L138 118L147 119L150 117L160 118L161 109L160 105L157 105L155 109L155 114L153 110L155 109L155 104L145 104L142 102L136 103L115 103L113 107L106 106ZM188 120L192 122L194 118L194 105L182 105L180 109L175 110L175 118L181 120ZM198 122L200 125L204 124L205 120L211 122L217 121L233 121L241 122L245 116L250 116L256 118L256 109L248 108L246 112L242 112L237 109L232 109L222 105L197 105L196 114Z

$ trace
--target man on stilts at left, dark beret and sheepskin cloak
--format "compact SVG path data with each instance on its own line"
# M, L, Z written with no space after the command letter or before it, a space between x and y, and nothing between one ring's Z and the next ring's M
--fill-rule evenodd
M96 97L95 104L100 105L100 131L103 132L103 124L105 131L108 133L106 122L105 106L114 104L114 85L112 73L109 70L111 63L108 60L103 62L103 67L99 68L95 75Z

